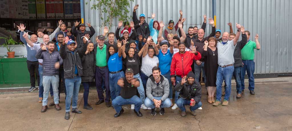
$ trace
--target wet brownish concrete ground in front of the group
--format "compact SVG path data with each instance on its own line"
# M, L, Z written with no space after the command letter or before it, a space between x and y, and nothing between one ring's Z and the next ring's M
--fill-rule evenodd
M291 85L291 77L256 79L256 95L250 95L246 88L242 98L237 99L233 80L229 105L218 107L207 102L206 88L203 87L203 110L197 110L194 117L186 106L184 118L179 109L171 108L166 109L164 116L159 115L159 109L156 116L141 109L143 117L138 118L130 105L123 107L125 111L120 117L114 118L112 107L106 107L105 103L95 105L98 97L96 90L91 89L88 102L93 110L83 109L80 91L78 108L82 114L70 113L70 119L65 120L64 93L60 95L62 110L49 107L41 113L37 90L33 93L2 92L0 127L1 130L292 130L292 105L288 101L292 98Z

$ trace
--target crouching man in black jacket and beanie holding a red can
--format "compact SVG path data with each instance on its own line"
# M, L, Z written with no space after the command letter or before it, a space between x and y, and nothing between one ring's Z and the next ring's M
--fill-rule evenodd
M190 110L192 111L192 115L196 116L195 110L202 106L201 103L201 85L195 82L195 75L192 71L190 71L187 76L182 78L182 81L179 82L175 87L175 91L180 92L180 98L176 102L176 105L180 108L181 116L186 116L185 105L190 105ZM187 79L187 80L186 80ZM194 99L194 101L191 101Z

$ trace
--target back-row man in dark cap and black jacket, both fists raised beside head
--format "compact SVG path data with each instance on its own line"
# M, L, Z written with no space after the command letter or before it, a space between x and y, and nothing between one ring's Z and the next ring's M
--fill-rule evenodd
M73 35L76 37L76 42L77 42L77 48L80 48L81 45L80 43L83 43L82 40L82 36L84 36L85 34L89 34L90 38L94 35L95 30L93 29L93 27L91 26L90 23L86 23L90 29L90 31L86 31L85 30L85 24L81 23L79 25L80 22L75 23L75 26L72 27L72 33ZM77 26L79 25L79 30L77 30Z

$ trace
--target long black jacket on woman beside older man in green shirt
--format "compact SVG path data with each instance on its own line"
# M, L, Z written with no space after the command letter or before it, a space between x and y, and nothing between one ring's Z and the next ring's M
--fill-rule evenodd
M86 46L86 45L82 45ZM83 67L83 76L81 77L82 82L93 82L95 76L95 63L94 63L94 52L84 54L81 59Z

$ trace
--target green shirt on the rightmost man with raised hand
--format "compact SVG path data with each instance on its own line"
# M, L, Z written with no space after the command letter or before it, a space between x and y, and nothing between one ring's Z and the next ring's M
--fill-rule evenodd
M253 60L255 53L253 50L256 49L256 42L249 40L248 43L241 49L242 60Z

